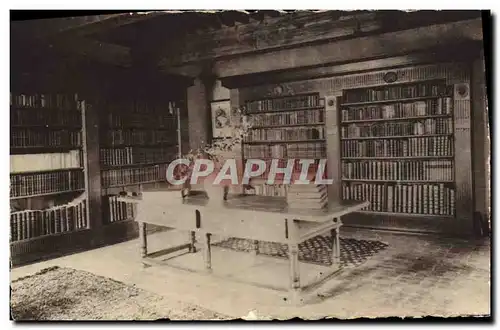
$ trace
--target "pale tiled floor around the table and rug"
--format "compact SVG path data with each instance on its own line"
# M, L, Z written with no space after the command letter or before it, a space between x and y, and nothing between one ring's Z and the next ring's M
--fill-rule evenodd
M388 246L363 264L331 279L319 296L303 306L283 300L283 294L205 274L170 268L143 269L138 241L130 241L60 259L13 269L12 278L52 265L87 270L168 297L233 317L250 311L273 318L353 318L377 316L452 316L490 313L490 243L434 236L410 236L345 228L344 238L375 240ZM185 240L175 231L151 237L153 248ZM223 265L238 269L244 252L227 257L214 249ZM238 257L239 256L239 257ZM200 259L201 260L201 259ZM266 276L281 282L279 269L266 261Z

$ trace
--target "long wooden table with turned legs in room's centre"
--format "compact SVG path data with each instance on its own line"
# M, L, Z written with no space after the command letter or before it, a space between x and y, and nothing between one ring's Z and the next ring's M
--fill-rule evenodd
M168 198L166 198L168 196ZM258 254L259 241L277 242L288 245L290 263L290 283L288 291L294 301L300 299L305 291L301 286L299 274L298 245L317 235L330 233L332 236L332 266L316 281L323 282L340 266L340 227L341 217L359 211L369 202L341 202L324 210L300 210L287 206L282 198L263 196L231 195L224 202L209 202L204 196L188 199L173 198L172 193L146 191L137 201L136 221L142 258L145 264L158 264L153 260L157 255L188 249L196 252L196 235L203 240L205 269L212 271L211 245L212 234L249 239L253 242L253 252ZM175 228L187 231L187 243L155 253L148 253L146 225Z

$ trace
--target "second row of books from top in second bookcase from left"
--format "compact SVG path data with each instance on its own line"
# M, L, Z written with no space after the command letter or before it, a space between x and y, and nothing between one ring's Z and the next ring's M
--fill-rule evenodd
M109 127L151 128L176 131L177 118L166 114L113 113L103 116L102 124Z

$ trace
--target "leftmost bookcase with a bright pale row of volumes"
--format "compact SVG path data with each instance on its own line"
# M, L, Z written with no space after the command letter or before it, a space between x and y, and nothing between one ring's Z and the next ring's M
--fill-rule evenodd
M11 93L13 259L39 253L44 237L89 229L82 121L75 94Z

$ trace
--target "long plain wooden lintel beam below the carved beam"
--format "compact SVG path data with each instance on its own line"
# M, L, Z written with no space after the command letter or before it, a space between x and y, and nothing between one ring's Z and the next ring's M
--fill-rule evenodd
M232 77L412 54L436 45L482 40L482 22L475 19L226 58L216 61L214 70L219 77ZM448 56L457 54L448 52Z

